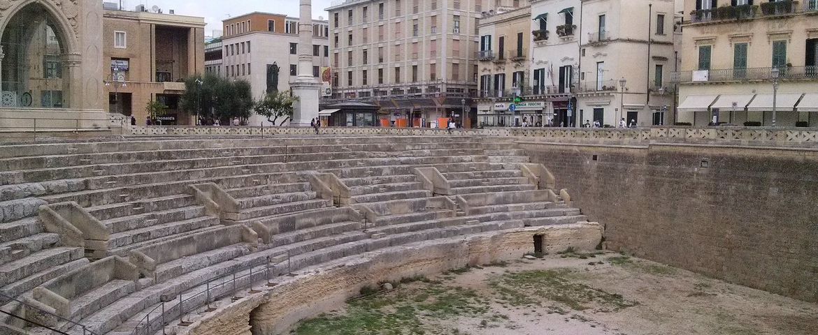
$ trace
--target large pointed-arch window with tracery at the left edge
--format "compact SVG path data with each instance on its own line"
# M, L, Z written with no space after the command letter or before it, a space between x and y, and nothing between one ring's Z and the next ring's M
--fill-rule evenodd
M49 11L33 3L17 11L2 32L3 107L68 108L70 79L65 36Z

